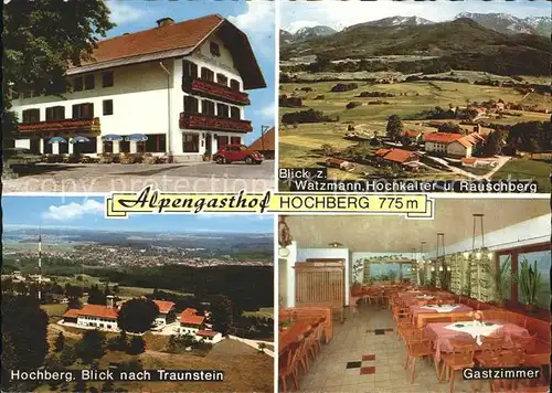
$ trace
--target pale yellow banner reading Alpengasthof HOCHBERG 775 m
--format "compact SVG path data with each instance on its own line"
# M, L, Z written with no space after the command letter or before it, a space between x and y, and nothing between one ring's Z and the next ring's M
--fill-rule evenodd
M247 214L404 214L433 217L433 201L425 194L341 193L166 193L146 187L140 192L114 192L106 199L106 217L128 214L247 213Z

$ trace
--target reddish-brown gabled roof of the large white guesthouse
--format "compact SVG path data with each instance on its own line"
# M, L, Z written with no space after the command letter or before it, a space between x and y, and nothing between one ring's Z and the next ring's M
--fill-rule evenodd
M82 61L79 66L70 66L67 75L185 56L212 34L217 34L232 52L245 89L266 87L247 36L219 14L102 40L92 59Z

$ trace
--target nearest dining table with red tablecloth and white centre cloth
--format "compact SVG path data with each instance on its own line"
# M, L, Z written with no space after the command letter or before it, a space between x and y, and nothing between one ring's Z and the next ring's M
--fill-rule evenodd
M482 343L481 337L501 334L505 338L503 348L507 349L513 347L516 337L530 336L526 328L500 320L433 322L426 325L425 334L433 340L436 361L440 359L440 352L452 352L450 340L471 337L477 350Z

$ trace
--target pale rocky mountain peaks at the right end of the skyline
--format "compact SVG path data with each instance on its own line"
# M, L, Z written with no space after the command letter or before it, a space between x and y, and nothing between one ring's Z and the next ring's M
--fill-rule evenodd
M455 19L459 18L469 18L487 29L503 34L550 35L551 30L550 17L530 17L521 19L508 13L461 12L455 17Z

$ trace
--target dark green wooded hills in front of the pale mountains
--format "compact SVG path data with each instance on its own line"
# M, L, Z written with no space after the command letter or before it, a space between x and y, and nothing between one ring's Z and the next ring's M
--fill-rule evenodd
M469 70L499 75L549 75L551 53L552 44L544 36L505 34L473 19L458 18L423 24L380 26L363 23L323 38L283 44L280 59L316 55L326 63L346 59L364 61L364 68L358 71L440 73ZM404 59L391 62L385 56ZM374 57L380 57L384 66L375 70Z

